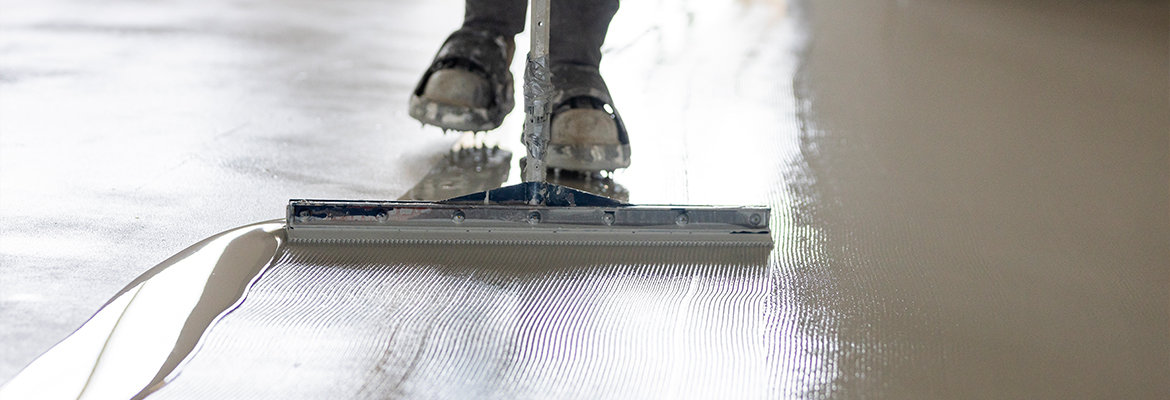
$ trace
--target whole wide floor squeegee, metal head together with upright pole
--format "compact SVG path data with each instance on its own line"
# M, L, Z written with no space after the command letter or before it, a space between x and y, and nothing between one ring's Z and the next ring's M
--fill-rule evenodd
M546 181L553 90L549 0L524 69L524 182L441 201L289 200L292 241L771 246L764 206L640 206Z

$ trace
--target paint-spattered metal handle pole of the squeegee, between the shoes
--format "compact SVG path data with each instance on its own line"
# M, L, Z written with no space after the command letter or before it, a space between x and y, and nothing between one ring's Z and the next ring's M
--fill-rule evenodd
M524 181L545 180L544 154L549 146L552 71L549 70L549 0L532 0L532 46L524 68L524 146L528 165ZM536 200L536 199L534 199Z

